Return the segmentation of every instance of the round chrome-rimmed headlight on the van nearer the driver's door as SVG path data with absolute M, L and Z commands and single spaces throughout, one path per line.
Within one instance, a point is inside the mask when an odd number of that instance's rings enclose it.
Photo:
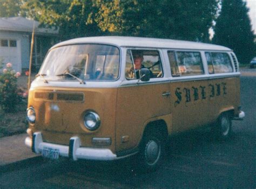
M 84 125 L 87 129 L 94 131 L 99 128 L 100 118 L 99 115 L 89 111 L 84 115 Z

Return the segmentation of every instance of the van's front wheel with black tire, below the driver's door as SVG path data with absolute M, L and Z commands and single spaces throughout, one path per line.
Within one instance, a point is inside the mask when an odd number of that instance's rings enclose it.
M 139 146 L 138 167 L 141 172 L 156 171 L 163 162 L 165 138 L 161 132 L 146 132 Z

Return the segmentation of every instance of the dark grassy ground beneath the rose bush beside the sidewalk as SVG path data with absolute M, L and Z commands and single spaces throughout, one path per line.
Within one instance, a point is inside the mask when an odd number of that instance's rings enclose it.
M 19 103 L 15 113 L 4 113 L 0 109 L 0 137 L 21 134 L 28 128 L 26 102 Z

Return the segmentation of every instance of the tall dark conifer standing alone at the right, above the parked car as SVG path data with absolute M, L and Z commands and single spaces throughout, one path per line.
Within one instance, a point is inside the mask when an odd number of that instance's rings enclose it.
M 254 34 L 246 2 L 223 0 L 216 20 L 213 43 L 231 48 L 242 64 L 255 56 Z

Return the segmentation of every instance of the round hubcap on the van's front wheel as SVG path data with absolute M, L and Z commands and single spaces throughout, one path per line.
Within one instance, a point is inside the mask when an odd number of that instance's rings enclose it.
M 160 157 L 160 145 L 155 141 L 149 141 L 145 148 L 145 157 L 147 164 L 156 164 Z

